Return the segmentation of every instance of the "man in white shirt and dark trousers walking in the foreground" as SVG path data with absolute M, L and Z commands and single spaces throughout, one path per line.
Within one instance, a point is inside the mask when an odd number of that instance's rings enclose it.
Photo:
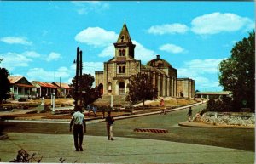
M 72 131 L 73 127 L 73 141 L 76 151 L 83 151 L 83 139 L 84 133 L 86 133 L 86 123 L 84 121 L 84 114 L 81 113 L 82 108 L 77 106 L 76 111 L 73 113 L 72 119 L 69 125 L 69 131 Z M 84 127 L 84 131 L 83 131 Z

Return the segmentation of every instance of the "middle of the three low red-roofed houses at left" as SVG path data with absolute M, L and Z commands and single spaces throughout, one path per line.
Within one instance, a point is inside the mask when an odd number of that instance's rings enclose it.
M 32 85 L 36 88 L 37 97 L 50 98 L 51 93 L 57 93 L 57 87 L 49 82 L 32 81 Z

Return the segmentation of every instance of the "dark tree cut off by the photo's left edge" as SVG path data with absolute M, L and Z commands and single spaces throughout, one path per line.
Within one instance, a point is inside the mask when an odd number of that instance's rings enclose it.
M 0 59 L 0 63 L 3 59 Z M 5 68 L 0 67 L 0 104 L 2 104 L 3 99 L 9 98 L 9 87 L 10 83 L 8 80 L 9 72 Z

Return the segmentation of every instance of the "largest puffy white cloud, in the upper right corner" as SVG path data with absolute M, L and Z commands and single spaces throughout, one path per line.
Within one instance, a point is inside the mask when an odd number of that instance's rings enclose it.
M 217 34 L 254 27 L 253 20 L 231 13 L 204 14 L 192 20 L 191 25 L 191 30 L 196 34 Z

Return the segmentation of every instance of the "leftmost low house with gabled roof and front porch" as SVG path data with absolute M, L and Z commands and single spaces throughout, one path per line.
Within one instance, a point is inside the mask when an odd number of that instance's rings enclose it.
M 36 88 L 24 76 L 8 76 L 12 99 L 30 99 L 36 94 Z

